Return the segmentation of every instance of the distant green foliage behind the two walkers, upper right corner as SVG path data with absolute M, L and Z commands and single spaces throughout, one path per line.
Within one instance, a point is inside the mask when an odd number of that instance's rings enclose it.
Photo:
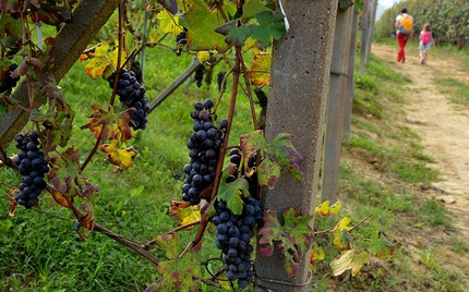
M 432 27 L 436 45 L 456 45 L 469 49 L 469 1 L 466 0 L 407 0 L 386 10 L 376 22 L 378 37 L 392 37 L 396 29 L 394 23 L 402 8 L 413 17 L 414 38 L 425 23 Z

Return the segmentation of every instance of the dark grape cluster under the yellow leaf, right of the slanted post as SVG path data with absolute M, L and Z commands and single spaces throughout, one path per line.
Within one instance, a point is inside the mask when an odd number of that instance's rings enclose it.
M 116 72 L 109 75 L 108 82 L 109 86 L 113 88 L 115 85 Z M 146 129 L 146 123 L 148 119 L 146 115 L 149 111 L 148 99 L 145 96 L 145 87 L 140 84 L 140 82 L 135 77 L 135 73 L 133 71 L 127 71 L 123 69 L 120 72 L 117 95 L 119 96 L 119 100 L 127 106 L 128 108 L 135 108 L 135 111 L 132 112 L 131 123 L 134 130 Z

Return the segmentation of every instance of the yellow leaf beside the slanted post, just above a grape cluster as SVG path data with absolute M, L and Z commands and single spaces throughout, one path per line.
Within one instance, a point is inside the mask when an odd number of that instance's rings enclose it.
M 105 72 L 113 72 L 117 68 L 118 60 L 118 42 L 116 41 L 115 49 L 110 50 L 110 46 L 107 42 L 101 42 L 95 47 L 93 53 L 82 54 L 80 60 L 88 60 L 85 65 L 86 74 L 96 80 L 97 77 L 105 74 Z M 121 60 L 125 60 L 127 53 L 121 50 Z M 105 76 L 106 77 L 106 76 Z

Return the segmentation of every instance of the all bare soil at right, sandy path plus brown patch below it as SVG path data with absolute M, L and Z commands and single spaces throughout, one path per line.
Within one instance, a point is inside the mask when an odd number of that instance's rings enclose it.
M 423 65 L 418 52 L 406 52 L 406 63 L 398 63 L 397 47 L 372 47 L 372 53 L 393 62 L 396 72 L 411 78 L 411 83 L 406 85 L 409 94 L 405 96 L 406 121 L 402 122 L 421 137 L 423 154 L 433 159 L 429 167 L 441 173 L 441 181 L 418 185 L 414 191 L 441 200 L 454 230 L 432 233 L 431 229 L 423 228 L 421 234 L 416 234 L 416 230 L 411 234 L 402 231 L 397 233 L 396 240 L 400 241 L 402 248 L 409 248 L 409 254 L 428 248 L 438 251 L 445 266 L 465 275 L 460 279 L 461 288 L 468 289 L 469 254 L 467 250 L 464 254 L 455 253 L 450 241 L 456 238 L 465 244 L 469 242 L 469 108 L 452 102 L 450 97 L 441 94 L 435 84 L 435 80 L 449 76 L 469 84 L 468 69 L 457 59 L 434 57 L 431 50 Z

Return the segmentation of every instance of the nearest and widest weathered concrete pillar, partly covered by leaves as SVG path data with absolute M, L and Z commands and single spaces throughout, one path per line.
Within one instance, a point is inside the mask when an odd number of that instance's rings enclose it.
M 304 182 L 294 181 L 284 170 L 274 190 L 263 190 L 261 202 L 264 210 L 279 215 L 288 207 L 306 215 L 313 214 L 316 198 L 337 1 L 282 3 L 290 31 L 273 48 L 265 136 L 270 142 L 282 132 L 293 135 L 292 144 L 304 158 Z M 306 291 L 309 261 L 310 253 L 304 253 L 299 270 L 288 278 L 278 251 L 269 258 L 257 253 L 254 291 Z

